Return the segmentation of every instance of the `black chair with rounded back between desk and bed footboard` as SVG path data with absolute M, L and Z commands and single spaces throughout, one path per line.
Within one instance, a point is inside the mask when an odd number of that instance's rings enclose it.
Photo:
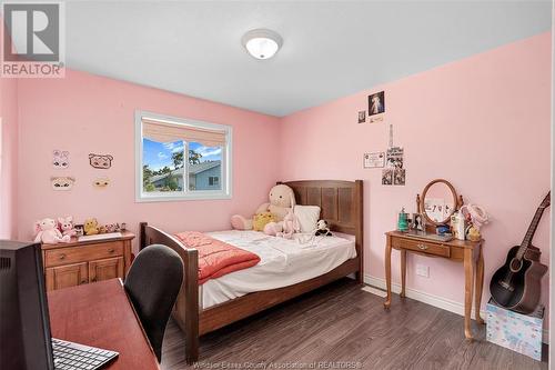
M 137 256 L 123 283 L 149 337 L 162 360 L 165 326 L 183 282 L 183 261 L 169 247 L 152 244 Z

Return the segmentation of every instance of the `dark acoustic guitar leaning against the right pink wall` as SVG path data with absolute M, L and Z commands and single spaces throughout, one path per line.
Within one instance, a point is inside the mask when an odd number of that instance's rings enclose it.
M 494 273 L 490 283 L 494 301 L 509 310 L 531 313 L 539 302 L 541 281 L 547 266 L 539 263 L 542 251 L 532 246 L 532 239 L 549 204 L 551 191 L 537 208 L 522 244 L 511 248 L 505 264 Z

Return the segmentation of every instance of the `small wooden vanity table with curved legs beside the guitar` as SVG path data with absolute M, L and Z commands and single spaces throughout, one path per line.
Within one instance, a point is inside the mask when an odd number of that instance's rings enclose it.
M 444 258 L 464 264 L 464 334 L 472 340 L 471 312 L 474 290 L 475 318 L 476 322 L 484 323 L 480 317 L 480 306 L 482 303 L 482 290 L 484 287 L 484 257 L 482 248 L 484 240 L 452 240 L 435 241 L 425 238 L 408 237 L 400 231 L 385 233 L 387 242 L 385 246 L 385 282 L 387 286 L 387 298 L 384 308 L 391 306 L 391 250 L 401 251 L 401 297 L 405 297 L 406 280 L 406 252 L 425 257 Z M 475 289 L 474 289 L 475 283 Z

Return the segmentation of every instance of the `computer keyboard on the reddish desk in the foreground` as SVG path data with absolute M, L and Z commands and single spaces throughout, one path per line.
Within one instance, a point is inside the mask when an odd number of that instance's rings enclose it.
M 52 338 L 54 368 L 57 370 L 95 370 L 119 356 L 118 352 L 67 342 Z

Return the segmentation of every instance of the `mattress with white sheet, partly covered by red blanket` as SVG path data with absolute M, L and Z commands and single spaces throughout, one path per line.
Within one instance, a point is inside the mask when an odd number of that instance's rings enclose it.
M 202 284 L 199 291 L 202 309 L 255 291 L 283 288 L 316 278 L 356 257 L 354 237 L 340 233 L 333 237 L 295 234 L 292 240 L 259 231 L 231 230 L 206 234 L 253 252 L 261 260 L 254 267 Z

